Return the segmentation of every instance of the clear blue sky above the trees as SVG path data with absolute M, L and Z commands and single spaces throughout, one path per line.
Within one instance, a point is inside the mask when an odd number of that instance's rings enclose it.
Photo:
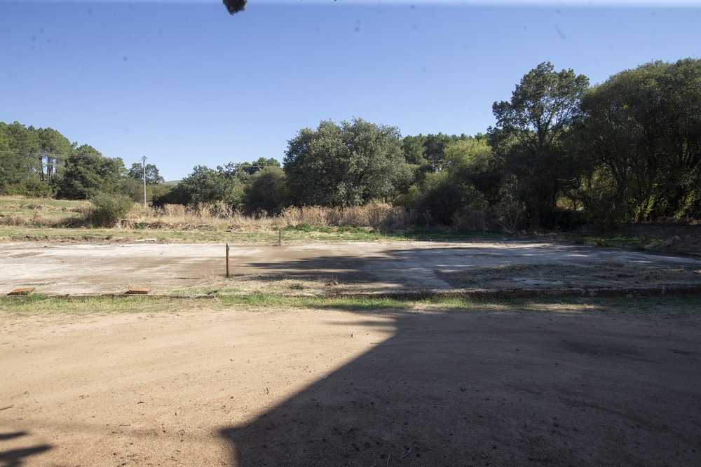
M 320 120 L 476 134 L 540 62 L 592 83 L 701 55 L 701 0 L 0 0 L 0 121 L 167 180 L 283 160 Z

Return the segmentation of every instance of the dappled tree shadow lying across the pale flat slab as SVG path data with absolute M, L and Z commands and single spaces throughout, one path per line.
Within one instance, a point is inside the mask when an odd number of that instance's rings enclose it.
M 318 250 L 326 252 L 326 249 Z M 607 267 L 613 262 L 625 263 L 626 267 L 637 267 L 639 270 L 654 270 L 665 267 L 693 269 L 701 267 L 701 261 L 688 258 L 665 258 L 645 253 L 627 251 L 602 251 L 588 246 L 563 246 L 546 244 L 501 244 L 490 245 L 489 248 L 479 244 L 459 244 L 454 246 L 430 246 L 417 249 L 386 248 L 365 256 L 339 252 L 337 255 L 316 255 L 313 248 L 302 251 L 281 251 L 279 260 L 246 261 L 236 264 L 238 276 L 248 276 L 254 280 L 277 281 L 292 280 L 330 280 L 341 285 L 359 285 L 362 288 L 390 289 L 447 289 L 463 288 L 465 286 L 482 288 L 513 288 L 524 286 L 519 283 L 518 270 L 512 272 L 515 279 L 507 278 L 494 282 L 490 270 L 504 276 L 503 267 L 523 265 L 557 265 L 553 270 L 552 280 L 543 281 L 548 285 L 552 281 L 571 277 L 573 283 L 582 281 L 576 279 L 581 274 L 588 274 L 594 267 Z M 631 266 L 633 265 L 633 266 Z M 611 266 L 614 267 L 614 266 Z M 615 272 L 615 271 L 614 271 Z M 618 271 L 620 273 L 620 271 Z M 468 277 L 465 277 L 468 274 Z M 538 271 L 543 276 L 543 270 Z M 620 276 L 620 274 L 619 274 Z M 617 280 L 617 277 L 612 276 Z M 510 281 L 510 282 L 509 282 Z M 609 280 L 610 281 L 610 280 Z M 533 286 L 529 281 L 528 286 Z M 537 281 L 536 281 L 537 282 Z M 538 284 L 536 284 L 537 286 Z M 615 284 L 614 284 L 615 285 Z

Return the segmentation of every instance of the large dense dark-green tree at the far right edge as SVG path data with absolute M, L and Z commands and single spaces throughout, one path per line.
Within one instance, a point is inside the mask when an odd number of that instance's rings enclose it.
M 609 223 L 701 214 L 701 60 L 651 62 L 594 86 L 580 133 L 587 207 Z

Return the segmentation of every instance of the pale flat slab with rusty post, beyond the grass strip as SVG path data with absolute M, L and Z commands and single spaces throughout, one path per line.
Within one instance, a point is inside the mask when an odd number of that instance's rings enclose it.
M 644 287 L 701 282 L 701 260 L 533 242 L 0 244 L 0 293 L 417 291 Z

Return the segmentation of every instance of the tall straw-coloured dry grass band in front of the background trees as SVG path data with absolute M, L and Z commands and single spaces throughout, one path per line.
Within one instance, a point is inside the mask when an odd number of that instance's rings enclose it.
M 9 200 L 6 200 L 9 201 Z M 90 202 L 73 202 L 72 207 L 46 203 L 6 202 L 0 210 L 0 225 L 16 227 L 87 227 L 90 223 Z M 289 225 L 308 223 L 312 228 L 343 226 L 374 230 L 405 230 L 416 222 L 414 211 L 391 204 L 369 204 L 354 208 L 290 207 L 278 216 L 265 212 L 247 216 L 224 204 L 182 206 L 166 204 L 162 208 L 134 203 L 130 213 L 116 228 L 148 230 L 230 230 L 265 232 Z

